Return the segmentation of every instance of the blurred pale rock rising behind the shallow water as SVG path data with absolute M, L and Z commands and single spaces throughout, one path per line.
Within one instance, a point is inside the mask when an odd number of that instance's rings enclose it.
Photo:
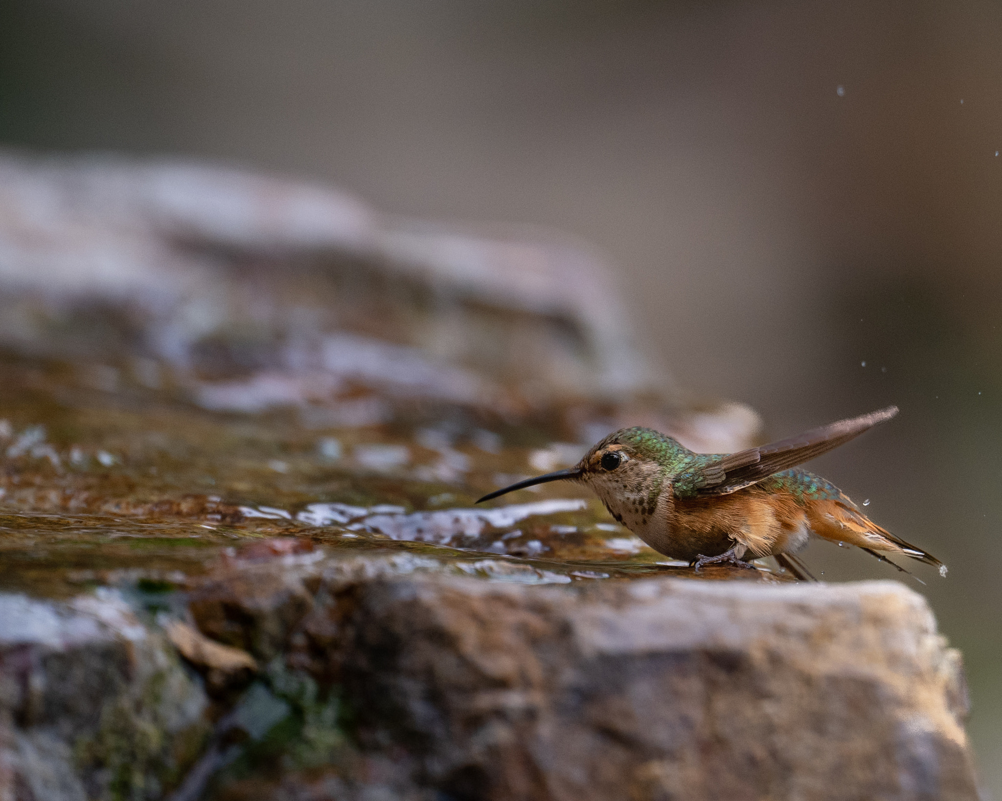
M 685 404 L 607 269 L 555 232 L 387 217 L 336 189 L 192 162 L 0 157 L 0 345 L 200 406 L 386 422 L 379 387 L 590 444 L 626 421 L 700 451 L 758 419 Z M 559 414 L 557 414 L 559 410 Z

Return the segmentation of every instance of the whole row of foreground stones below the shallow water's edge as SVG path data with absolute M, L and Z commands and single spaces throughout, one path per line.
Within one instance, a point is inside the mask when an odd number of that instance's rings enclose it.
M 119 593 L 0 598 L 6 797 L 977 797 L 958 654 L 896 582 L 439 567 L 232 565 L 174 607 L 224 646 L 186 663 Z

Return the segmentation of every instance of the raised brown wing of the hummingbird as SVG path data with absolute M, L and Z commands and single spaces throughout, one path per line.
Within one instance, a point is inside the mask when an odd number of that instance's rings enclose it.
M 778 443 L 711 458 L 708 462 L 700 461 L 675 481 L 675 495 L 683 498 L 727 495 L 827 454 L 897 414 L 897 407 L 888 407 L 812 429 Z

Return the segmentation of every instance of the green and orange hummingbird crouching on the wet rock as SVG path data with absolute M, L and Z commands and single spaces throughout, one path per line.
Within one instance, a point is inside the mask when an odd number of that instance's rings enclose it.
M 573 468 L 489 493 L 477 503 L 555 481 L 589 487 L 621 525 L 664 556 L 704 565 L 774 557 L 797 579 L 814 580 L 797 557 L 812 534 L 885 555 L 946 566 L 871 521 L 826 479 L 799 468 L 898 414 L 888 407 L 735 454 L 696 454 L 653 429 L 621 429 Z

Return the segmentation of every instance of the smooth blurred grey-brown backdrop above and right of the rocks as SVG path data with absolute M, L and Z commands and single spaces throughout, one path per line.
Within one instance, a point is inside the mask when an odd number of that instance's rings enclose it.
M 1002 798 L 1002 6 L 7 0 L 0 144 L 205 157 L 383 211 L 578 235 L 637 338 L 950 566 Z M 813 546 L 826 578 L 897 578 Z

